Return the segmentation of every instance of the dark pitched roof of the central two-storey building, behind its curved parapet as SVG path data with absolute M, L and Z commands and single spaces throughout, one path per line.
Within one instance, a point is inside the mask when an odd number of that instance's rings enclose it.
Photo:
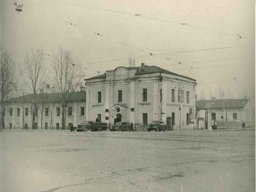
M 163 68 L 157 67 L 157 66 L 144 66 L 144 69 L 142 70 L 142 67 L 125 67 L 125 68 L 136 68 L 137 72 L 135 73 L 135 75 L 141 75 L 141 74 L 150 74 L 150 73 L 166 73 L 166 74 L 171 74 L 171 75 L 177 75 L 180 77 L 184 77 L 186 79 L 191 79 L 193 81 L 196 81 L 196 79 L 192 79 L 190 77 L 186 77 L 183 75 L 179 75 L 177 73 L 173 73 L 170 71 L 167 71 Z M 90 79 L 99 79 L 99 78 L 106 78 L 106 74 L 102 74 L 102 75 L 97 75 L 88 79 L 84 79 L 84 80 L 90 80 Z

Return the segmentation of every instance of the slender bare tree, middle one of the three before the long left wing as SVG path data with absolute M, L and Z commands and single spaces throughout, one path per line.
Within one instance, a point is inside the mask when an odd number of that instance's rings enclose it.
M 39 98 L 37 93 L 44 85 L 46 78 L 45 61 L 45 54 L 41 48 L 37 48 L 36 50 L 31 49 L 30 51 L 26 52 L 25 73 L 27 78 L 25 78 L 25 81 L 33 93 L 33 101 L 30 106 L 30 113 L 32 115 L 32 129 L 36 128 L 35 117 L 37 117 L 37 110 L 39 105 Z

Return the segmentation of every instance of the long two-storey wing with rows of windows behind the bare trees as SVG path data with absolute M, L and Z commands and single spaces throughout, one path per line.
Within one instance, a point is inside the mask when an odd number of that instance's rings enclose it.
M 37 94 L 38 99 L 43 99 L 43 113 L 42 113 L 42 129 L 50 129 L 51 118 L 50 114 L 52 111 L 52 127 L 53 129 L 61 128 L 61 113 L 62 107 L 60 105 L 61 93 L 41 93 Z M 34 99 L 33 94 L 24 95 L 21 97 L 12 98 L 6 101 L 7 107 L 5 110 L 5 129 L 22 129 L 23 128 L 23 117 L 24 117 L 24 128 L 32 129 L 32 115 L 30 109 Z M 66 111 L 66 126 L 68 128 L 71 123 L 77 126 L 85 120 L 86 111 L 86 92 L 79 91 L 72 94 L 69 105 Z M 35 123 L 37 129 L 41 129 L 41 111 L 42 102 L 38 101 L 38 110 L 35 117 Z M 64 128 L 64 129 L 67 129 Z

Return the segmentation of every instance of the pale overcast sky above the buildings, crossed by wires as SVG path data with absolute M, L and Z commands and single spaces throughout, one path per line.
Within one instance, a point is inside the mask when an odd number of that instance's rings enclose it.
M 63 46 L 78 56 L 84 78 L 129 67 L 131 54 L 135 66 L 196 79 L 197 90 L 221 85 L 232 98 L 241 87 L 255 90 L 254 0 L 57 1 L 17 0 L 19 14 L 14 1 L 0 1 L 1 43 L 19 66 L 29 48 L 52 55 Z

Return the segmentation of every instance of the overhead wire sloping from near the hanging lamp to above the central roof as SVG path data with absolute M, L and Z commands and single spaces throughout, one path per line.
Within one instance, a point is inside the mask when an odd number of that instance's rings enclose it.
M 49 0 L 49 1 L 50 1 L 50 0 Z M 28 7 L 29 7 L 29 6 L 28 6 Z M 30 8 L 31 8 L 31 7 L 30 7 Z M 86 31 L 89 31 L 89 32 L 91 32 L 91 33 L 93 33 L 93 34 L 96 34 L 96 35 L 102 36 L 102 37 L 104 37 L 104 38 L 107 38 L 107 39 L 113 40 L 113 41 L 115 41 L 115 42 L 118 42 L 118 43 L 124 44 L 125 46 L 132 47 L 132 48 L 134 48 L 134 49 L 136 49 L 136 50 L 139 50 L 139 51 L 145 52 L 145 53 L 149 54 L 148 56 L 157 56 L 157 57 L 159 57 L 159 58 L 163 58 L 163 59 L 166 59 L 166 60 L 170 60 L 170 61 L 173 61 L 173 62 L 177 62 L 177 63 L 179 63 L 178 61 L 175 61 L 175 60 L 172 60 L 172 59 L 169 59 L 169 58 L 164 58 L 164 57 L 162 57 L 162 56 L 155 55 L 155 54 L 153 54 L 153 53 L 151 53 L 151 52 L 148 52 L 148 51 L 144 51 L 144 50 L 142 50 L 142 49 L 140 49 L 140 48 L 137 48 L 137 47 L 131 46 L 131 45 L 127 44 L 127 43 L 124 43 L 124 42 L 118 41 L 118 40 L 116 40 L 116 39 L 110 38 L 110 37 L 108 37 L 108 36 L 105 36 L 105 35 L 99 34 L 98 32 L 94 32 L 94 31 L 88 30 L 87 28 L 84 28 L 84 27 L 78 26 L 78 25 L 76 25 L 76 24 L 74 24 L 74 23 L 70 23 L 70 22 L 68 22 L 68 21 L 66 21 L 66 20 L 63 20 L 63 19 L 60 19 L 60 18 L 58 18 L 58 17 L 55 17 L 55 16 L 52 16 L 52 15 L 49 15 L 49 14 L 44 13 L 44 12 L 42 12 L 42 11 L 39 11 L 39 10 L 37 10 L 37 9 L 34 9 L 34 8 L 31 8 L 31 9 L 33 9 L 33 10 L 35 10 L 35 11 L 38 11 L 38 12 L 40 12 L 40 13 L 43 13 L 43 14 L 45 14 L 45 15 L 48 15 L 48 16 L 50 16 L 50 17 L 53 17 L 53 18 L 55 18 L 55 19 L 61 20 L 61 21 L 65 22 L 65 23 L 71 24 L 71 25 L 73 25 L 73 26 L 79 27 L 79 28 L 84 29 L 84 30 L 86 30 Z

